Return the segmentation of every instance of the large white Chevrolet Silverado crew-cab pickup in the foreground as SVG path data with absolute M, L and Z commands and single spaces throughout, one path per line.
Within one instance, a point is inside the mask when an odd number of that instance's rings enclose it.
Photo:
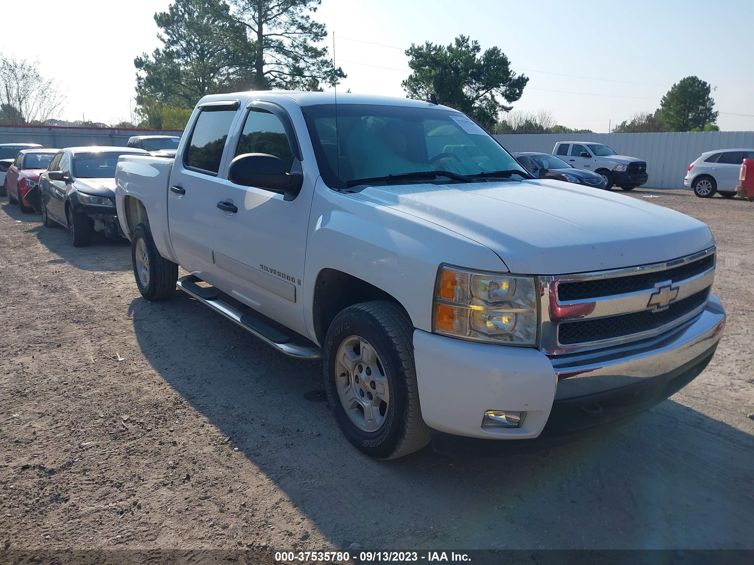
M 534 179 L 431 102 L 205 96 L 174 160 L 127 155 L 115 179 L 144 298 L 177 280 L 321 357 L 337 423 L 372 457 L 622 420 L 696 377 L 725 325 L 705 224 Z

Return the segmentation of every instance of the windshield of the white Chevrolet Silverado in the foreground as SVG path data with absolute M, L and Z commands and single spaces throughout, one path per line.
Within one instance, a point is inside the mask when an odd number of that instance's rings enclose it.
M 306 106 L 314 153 L 329 187 L 354 179 L 404 173 L 447 171 L 473 176 L 492 171 L 524 171 L 486 131 L 457 111 L 441 108 L 342 104 Z M 523 178 L 530 178 L 524 173 Z M 397 182 L 385 179 L 385 182 Z M 450 176 L 401 182 L 458 182 Z M 350 183 L 354 184 L 353 182 Z

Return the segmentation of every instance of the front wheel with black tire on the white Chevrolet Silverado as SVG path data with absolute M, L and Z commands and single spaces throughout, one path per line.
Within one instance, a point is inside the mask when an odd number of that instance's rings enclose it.
M 325 337 L 327 400 L 343 435 L 369 457 L 396 459 L 425 447 L 412 344 L 413 326 L 396 304 L 342 310 Z

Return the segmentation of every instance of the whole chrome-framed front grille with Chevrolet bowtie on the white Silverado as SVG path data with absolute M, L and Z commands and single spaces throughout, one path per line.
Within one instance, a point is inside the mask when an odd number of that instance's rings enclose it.
M 705 307 L 715 249 L 626 269 L 540 277 L 541 349 L 597 350 L 670 331 Z

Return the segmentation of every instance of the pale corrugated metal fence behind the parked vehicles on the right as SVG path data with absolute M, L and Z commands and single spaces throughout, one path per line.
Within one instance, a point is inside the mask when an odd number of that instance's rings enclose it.
M 495 136 L 511 153 L 551 153 L 556 142 L 604 143 L 614 151 L 647 162 L 651 188 L 683 188 L 688 166 L 704 151 L 716 149 L 754 150 L 754 132 L 710 131 L 669 133 L 521 133 Z

